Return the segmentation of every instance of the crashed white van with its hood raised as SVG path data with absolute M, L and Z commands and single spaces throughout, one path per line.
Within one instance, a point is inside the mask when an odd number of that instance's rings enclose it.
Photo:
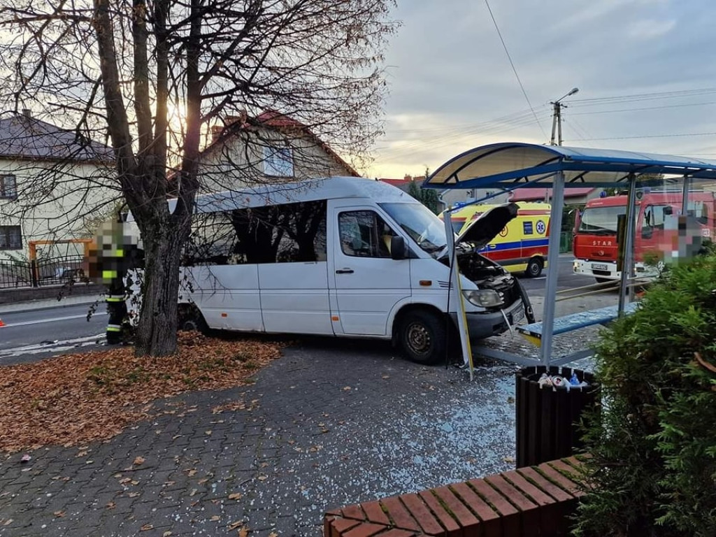
M 474 339 L 504 332 L 529 304 L 476 253 L 516 214 L 505 207 L 458 238 Z M 392 339 L 415 362 L 444 359 L 456 319 L 445 227 L 402 190 L 334 177 L 200 195 L 192 230 L 180 328 Z

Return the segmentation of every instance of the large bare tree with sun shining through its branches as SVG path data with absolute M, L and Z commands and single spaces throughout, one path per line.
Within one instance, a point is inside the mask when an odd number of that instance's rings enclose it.
M 392 4 L 0 0 L 0 99 L 113 149 L 145 250 L 137 354 L 176 349 L 180 250 L 208 127 L 227 117 L 256 127 L 248 118 L 276 110 L 364 156 L 379 133 Z

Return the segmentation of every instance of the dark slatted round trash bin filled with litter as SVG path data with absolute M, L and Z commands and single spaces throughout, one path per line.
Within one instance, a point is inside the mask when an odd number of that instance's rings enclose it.
M 574 448 L 581 448 L 579 420 L 584 410 L 599 405 L 599 394 L 599 384 L 589 372 L 569 367 L 520 369 L 515 389 L 517 467 L 569 457 Z

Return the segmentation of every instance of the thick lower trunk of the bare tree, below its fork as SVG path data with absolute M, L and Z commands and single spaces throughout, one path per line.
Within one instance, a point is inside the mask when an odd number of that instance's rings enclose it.
M 182 226 L 155 222 L 143 233 L 145 270 L 135 356 L 161 357 L 177 351 L 177 310 Z

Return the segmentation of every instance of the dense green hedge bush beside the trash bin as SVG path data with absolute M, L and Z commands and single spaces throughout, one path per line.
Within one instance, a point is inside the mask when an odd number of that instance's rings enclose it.
M 677 266 L 601 334 L 581 536 L 716 535 L 716 254 Z

